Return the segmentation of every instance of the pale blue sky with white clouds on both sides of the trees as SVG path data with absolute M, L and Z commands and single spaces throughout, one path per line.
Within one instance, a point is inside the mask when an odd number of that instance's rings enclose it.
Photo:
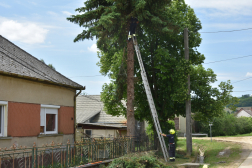
M 110 79 L 99 73 L 96 40 L 73 42 L 82 28 L 66 20 L 77 14 L 84 0 L 1 0 L 0 35 L 58 72 L 86 86 L 89 95 L 100 94 Z M 252 94 L 252 1 L 185 0 L 202 23 L 204 67 L 221 81 L 231 80 L 233 96 Z M 220 31 L 232 32 L 220 32 Z M 218 33 L 209 33 L 218 32 Z M 242 57 L 242 58 L 239 58 Z M 235 59 L 234 59 L 235 58 Z M 225 60 L 225 61 L 221 61 Z M 250 67 L 251 66 L 251 67 Z

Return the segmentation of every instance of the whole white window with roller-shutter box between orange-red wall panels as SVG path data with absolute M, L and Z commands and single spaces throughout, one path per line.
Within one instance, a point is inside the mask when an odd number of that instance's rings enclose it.
M 40 110 L 40 133 L 58 133 L 58 109 L 60 106 L 41 105 Z

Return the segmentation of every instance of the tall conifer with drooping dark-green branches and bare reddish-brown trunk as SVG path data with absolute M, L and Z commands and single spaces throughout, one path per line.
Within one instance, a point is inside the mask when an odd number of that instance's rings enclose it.
M 152 29 L 159 25 L 161 32 L 169 29 L 166 7 L 171 0 L 87 0 L 76 11 L 84 14 L 67 18 L 85 29 L 74 41 L 96 37 L 97 47 L 106 54 L 120 51 L 127 43 L 127 135 L 135 136 L 134 117 L 134 48 L 127 41 L 130 18 L 137 17 L 141 24 Z M 115 50 L 111 50 L 114 47 Z

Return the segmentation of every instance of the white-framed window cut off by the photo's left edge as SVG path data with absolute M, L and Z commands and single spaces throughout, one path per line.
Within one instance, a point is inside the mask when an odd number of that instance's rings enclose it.
M 7 104 L 6 101 L 0 101 L 0 137 L 7 136 Z

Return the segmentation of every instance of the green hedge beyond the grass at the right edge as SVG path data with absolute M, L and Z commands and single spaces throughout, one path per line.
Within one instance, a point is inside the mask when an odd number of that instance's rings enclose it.
M 210 135 L 210 127 L 207 122 L 197 122 L 201 133 Z M 236 118 L 234 114 L 225 113 L 223 117 L 215 118 L 212 125 L 212 136 L 232 136 L 252 132 L 252 118 Z

